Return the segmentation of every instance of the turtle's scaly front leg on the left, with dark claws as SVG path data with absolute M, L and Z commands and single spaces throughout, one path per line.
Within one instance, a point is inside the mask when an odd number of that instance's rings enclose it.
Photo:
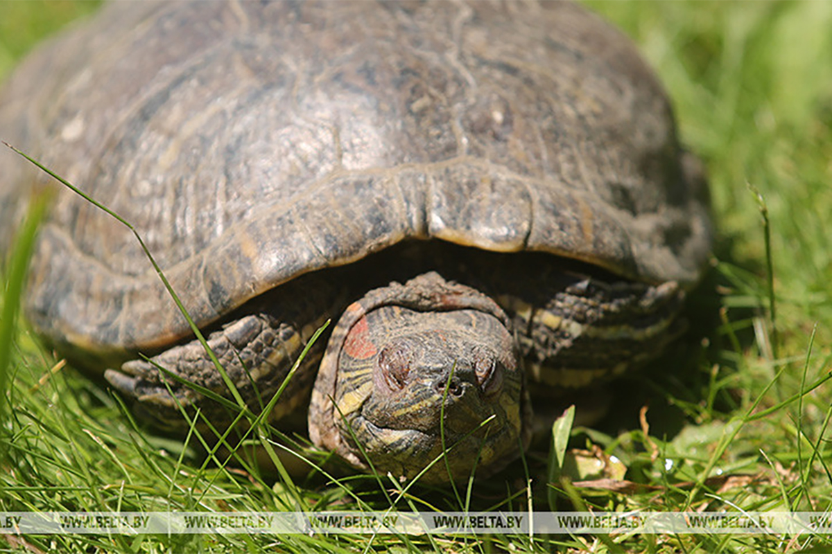
M 208 346 L 245 404 L 257 412 L 280 388 L 316 328 L 305 326 L 299 329 L 269 313 L 254 313 L 241 316 L 211 333 Z M 324 341 L 321 341 L 310 350 L 275 404 L 271 420 L 285 417 L 308 399 L 314 380 L 311 368 L 318 365 L 323 346 Z M 128 361 L 121 365 L 121 370 L 106 370 L 105 377 L 116 390 L 136 400 L 137 416 L 150 420 L 156 427 L 175 431 L 187 429 L 181 416 L 182 408 L 191 414 L 195 408 L 200 409 L 201 414 L 220 428 L 235 419 L 237 414 L 232 409 L 166 375 L 159 367 L 182 380 L 233 399 L 205 348 L 196 340 L 174 346 L 151 361 Z

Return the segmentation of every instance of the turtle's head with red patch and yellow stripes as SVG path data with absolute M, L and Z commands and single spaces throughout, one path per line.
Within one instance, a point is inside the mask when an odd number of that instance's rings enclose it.
M 500 307 L 431 272 L 345 311 L 315 384 L 310 435 L 359 468 L 458 480 L 517 457 L 524 395 Z

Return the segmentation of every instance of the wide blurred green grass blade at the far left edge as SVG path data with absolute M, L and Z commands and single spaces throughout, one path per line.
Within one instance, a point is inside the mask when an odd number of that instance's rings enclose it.
M 20 311 L 23 284 L 26 280 L 29 259 L 35 248 L 37 228 L 46 213 L 48 194 L 35 194 L 29 201 L 28 213 L 17 231 L 17 239 L 8 259 L 6 290 L 0 312 L 0 424 L 5 421 L 8 375 L 12 364 L 14 338 L 17 332 L 17 313 Z M 2 429 L 6 429 L 2 425 Z M 0 455 L 4 452 L 0 452 Z

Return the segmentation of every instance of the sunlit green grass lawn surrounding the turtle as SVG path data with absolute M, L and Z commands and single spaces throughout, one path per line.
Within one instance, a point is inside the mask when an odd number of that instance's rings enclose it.
M 706 162 L 718 230 L 712 269 L 691 297 L 686 341 L 649 380 L 622 383 L 613 417 L 572 428 L 566 453 L 558 429 L 557 463 L 547 463 L 545 451 L 525 460 L 529 488 L 518 463 L 503 481 L 478 483 L 470 503 L 522 510 L 530 498 L 545 510 L 552 498 L 559 509 L 829 510 L 832 2 L 589 3 L 639 43 L 671 91 L 683 142 Z M 0 72 L 43 32 L 90 9 L 84 2 L 0 2 Z M 218 466 L 196 453 L 196 436 L 183 445 L 147 434 L 116 397 L 42 351 L 25 324 L 10 327 L 19 302 L 10 267 L 0 321 L 0 360 L 9 360 L 0 511 L 384 509 L 396 498 L 400 509 L 428 511 L 468 502 L 470 491 L 402 494 L 383 476 L 328 483 L 312 472 L 292 481 Z M 3 341 L 4 333 L 13 341 Z M 678 360 L 691 361 L 685 371 L 663 371 Z M 582 469 L 599 457 L 607 460 L 600 477 L 630 484 L 577 487 L 599 477 Z M 832 552 L 820 535 L 368 541 L 6 538 L 8 549 L 29 552 Z

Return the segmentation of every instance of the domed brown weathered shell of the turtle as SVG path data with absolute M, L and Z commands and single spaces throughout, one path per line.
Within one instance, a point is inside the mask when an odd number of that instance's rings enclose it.
M 570 3 L 113 2 L 18 68 L 0 130 L 134 225 L 199 326 L 406 240 L 685 285 L 710 248 L 664 91 Z M 47 179 L 0 156 L 7 221 Z M 66 189 L 31 276 L 52 342 L 190 333 L 131 231 Z

